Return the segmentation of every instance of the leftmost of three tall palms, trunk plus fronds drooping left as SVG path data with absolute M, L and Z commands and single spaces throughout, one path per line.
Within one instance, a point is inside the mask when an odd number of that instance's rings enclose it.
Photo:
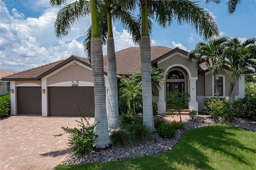
M 66 4 L 66 0 L 51 0 L 52 6 Z M 94 123 L 98 125 L 94 128 L 94 133 L 98 134 L 95 140 L 96 148 L 105 148 L 111 141 L 108 134 L 108 121 L 106 114 L 106 97 L 104 85 L 104 65 L 102 42 L 100 38 L 100 27 L 98 23 L 96 1 L 80 0 L 68 4 L 58 11 L 54 24 L 55 34 L 58 38 L 66 36 L 75 20 L 88 16 L 91 13 L 92 34 L 91 34 L 91 64 L 92 77 L 94 82 Z

